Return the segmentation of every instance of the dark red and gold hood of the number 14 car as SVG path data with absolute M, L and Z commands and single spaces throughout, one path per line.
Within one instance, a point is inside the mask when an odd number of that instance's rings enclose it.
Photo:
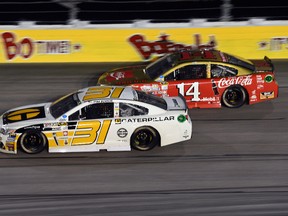
M 145 65 L 117 68 L 102 74 L 98 80 L 100 85 L 129 85 L 133 83 L 151 82 L 145 74 Z

